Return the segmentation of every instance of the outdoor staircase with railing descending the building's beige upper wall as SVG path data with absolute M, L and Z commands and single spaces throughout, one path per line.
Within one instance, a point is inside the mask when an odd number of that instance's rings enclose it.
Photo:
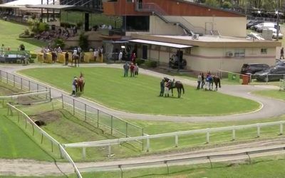
M 189 21 L 187 21 L 182 16 L 167 16 L 167 13 L 155 3 L 139 3 L 136 2 L 135 10 L 141 12 L 151 12 L 156 15 L 165 23 L 173 23 L 177 26 L 180 26 L 185 31 L 185 35 L 194 35 L 198 33 L 202 36 L 205 33 L 205 29 L 202 27 L 193 26 Z

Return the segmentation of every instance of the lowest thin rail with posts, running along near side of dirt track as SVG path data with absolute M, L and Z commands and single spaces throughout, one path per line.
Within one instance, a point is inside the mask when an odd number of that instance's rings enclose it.
M 274 147 L 266 147 L 266 148 L 257 148 L 257 149 L 251 149 L 247 151 L 241 151 L 241 152 L 232 152 L 232 153 L 225 153 L 225 154 L 209 154 L 209 155 L 202 155 L 202 156 L 190 156 L 190 157 L 184 157 L 184 158 L 178 158 L 178 159 L 163 159 L 158 161 L 152 161 L 147 160 L 146 162 L 135 162 L 135 163 L 126 163 L 126 164 L 113 164 L 113 165 L 106 165 L 106 166 L 96 166 L 96 167 L 85 167 L 82 168 L 81 171 L 88 170 L 88 172 L 93 171 L 108 171 L 118 169 L 121 172 L 121 177 L 123 177 L 123 168 L 130 169 L 135 167 L 150 167 L 154 165 L 162 165 L 165 164 L 167 167 L 167 174 L 169 174 L 169 164 L 201 164 L 201 163 L 207 163 L 209 162 L 211 168 L 213 167 L 212 162 L 214 159 L 218 159 L 216 162 L 222 162 L 219 158 L 225 158 L 227 160 L 237 160 L 239 158 L 237 157 L 243 157 L 240 159 L 249 159 L 249 164 L 252 163 L 252 157 L 251 155 L 257 155 L 262 153 L 268 153 L 268 152 L 284 152 L 285 146 L 284 145 L 277 145 Z M 260 155 L 262 156 L 262 155 Z M 264 156 L 264 155 L 263 155 Z M 234 157 L 233 159 L 229 159 L 229 157 Z M 199 161 L 199 162 L 193 162 L 193 161 Z M 202 161 L 202 162 L 201 162 Z

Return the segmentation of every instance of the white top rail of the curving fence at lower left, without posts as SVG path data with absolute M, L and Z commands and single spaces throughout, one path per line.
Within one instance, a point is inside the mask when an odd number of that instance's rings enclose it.
M 21 112 L 22 115 L 24 115 L 26 117 L 26 119 L 28 120 L 28 122 L 30 122 L 31 125 L 33 125 L 33 127 L 36 127 L 38 129 L 38 131 L 44 135 L 45 137 L 48 138 L 48 140 L 51 140 L 51 142 L 53 142 L 54 144 L 58 145 L 61 149 L 61 154 L 63 154 L 66 159 L 68 159 L 68 162 L 70 162 L 73 165 L 73 168 L 76 172 L 76 174 L 78 175 L 79 178 L 82 178 L 81 173 L 78 170 L 78 167 L 76 167 L 76 164 L 73 162 L 73 159 L 71 159 L 71 156 L 68 155 L 68 152 L 66 152 L 66 150 L 63 148 L 63 146 L 61 145 L 61 143 L 59 143 L 56 139 L 54 139 L 53 137 L 51 137 L 51 135 L 48 135 L 48 133 L 46 131 L 44 131 L 43 129 L 41 129 L 41 127 L 39 127 L 38 125 L 36 125 L 35 122 L 33 122 L 33 120 L 31 120 L 30 117 L 28 117 L 28 115 L 26 115 L 25 112 L 19 110 L 18 108 L 16 108 L 14 105 L 11 105 L 9 103 L 6 104 L 8 106 L 8 108 L 11 110 L 11 108 L 13 108 L 14 110 L 16 110 L 17 112 Z

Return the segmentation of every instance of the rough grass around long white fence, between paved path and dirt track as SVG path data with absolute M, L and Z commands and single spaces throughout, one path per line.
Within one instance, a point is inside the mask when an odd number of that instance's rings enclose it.
M 56 110 L 51 111 L 52 108 Z M 78 117 L 74 117 L 72 112 L 62 110 L 61 103 L 41 104 L 22 106 L 21 110 L 24 110 L 28 115 L 31 115 L 33 119 L 46 118 L 42 128 L 46 130 L 52 137 L 56 138 L 61 143 L 72 143 L 72 142 L 84 142 L 84 141 L 95 141 L 113 139 L 115 137 L 110 135 L 110 132 L 98 129 L 92 122 L 85 122 L 80 120 Z M 141 121 L 141 120 L 128 120 L 129 122 L 135 123 L 140 127 L 143 127 L 147 134 L 159 134 L 165 132 L 176 132 L 183 130 L 198 130 L 210 127 L 226 127 L 232 125 L 247 125 L 257 122 L 273 122 L 277 120 L 285 120 L 285 115 L 282 117 L 272 117 L 266 120 L 251 120 L 251 121 L 234 121 L 234 122 L 152 122 L 152 121 Z M 193 147 L 213 147 L 218 143 L 224 145 L 233 145 L 237 142 L 250 142 L 252 140 L 269 139 L 278 137 L 279 125 L 271 127 L 261 127 L 261 137 L 257 138 L 257 129 L 250 128 L 236 131 L 236 142 L 232 142 L 232 131 L 228 132 L 214 132 L 210 134 L 210 143 L 204 145 L 206 137 L 204 134 L 193 134 L 179 137 L 179 147 L 175 148 L 174 137 L 164 137 L 160 139 L 150 140 L 150 152 L 142 150 L 142 145 L 138 142 L 124 143 L 120 146 L 112 146 L 112 153 L 115 154 L 113 158 L 119 157 L 130 157 L 140 156 L 147 154 L 156 154 L 159 152 L 180 152 L 184 149 L 191 149 Z M 88 148 L 86 150 L 86 159 L 82 159 L 82 150 L 76 148 L 68 148 L 68 153 L 76 161 L 93 161 L 99 159 L 106 159 L 108 150 L 105 147 Z

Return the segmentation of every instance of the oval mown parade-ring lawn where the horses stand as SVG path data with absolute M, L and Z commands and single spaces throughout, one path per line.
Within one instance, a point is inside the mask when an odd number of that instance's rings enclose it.
M 138 75 L 123 78 L 123 69 L 115 68 L 33 68 L 20 73 L 71 93 L 73 76 L 84 73 L 84 98 L 117 110 L 164 115 L 227 115 L 249 112 L 259 103 L 217 92 L 195 90 L 185 85 L 185 94 L 177 98 L 159 97 L 160 78 Z M 219 109 L 217 109 L 219 108 Z

